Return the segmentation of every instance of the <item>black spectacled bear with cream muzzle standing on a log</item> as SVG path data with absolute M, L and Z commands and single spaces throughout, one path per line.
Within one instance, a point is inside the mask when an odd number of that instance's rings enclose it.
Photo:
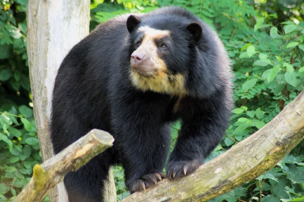
M 115 164 L 131 193 L 162 181 L 176 120 L 166 176 L 193 173 L 220 142 L 232 106 L 231 61 L 216 32 L 191 12 L 166 7 L 100 24 L 58 70 L 51 139 L 55 153 L 94 128 L 115 142 L 65 176 L 69 201 L 102 201 Z

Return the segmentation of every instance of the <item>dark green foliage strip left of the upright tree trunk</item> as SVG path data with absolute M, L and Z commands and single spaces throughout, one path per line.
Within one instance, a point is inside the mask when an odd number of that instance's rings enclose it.
M 0 201 L 11 201 L 41 163 L 26 54 L 26 1 L 0 1 Z

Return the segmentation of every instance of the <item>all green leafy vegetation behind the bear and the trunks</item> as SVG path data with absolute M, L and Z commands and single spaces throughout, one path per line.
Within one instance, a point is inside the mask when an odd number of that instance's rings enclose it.
M 208 160 L 254 133 L 304 88 L 302 0 L 91 0 L 92 30 L 128 12 L 176 5 L 218 31 L 235 71 L 231 126 Z M 179 123 L 172 125 L 173 143 Z M 10 201 L 41 163 L 26 54 L 26 0 L 0 0 L 0 201 Z M 304 201 L 304 142 L 274 169 L 212 201 Z M 114 168 L 118 199 L 129 195 Z M 48 200 L 48 199 L 46 199 Z

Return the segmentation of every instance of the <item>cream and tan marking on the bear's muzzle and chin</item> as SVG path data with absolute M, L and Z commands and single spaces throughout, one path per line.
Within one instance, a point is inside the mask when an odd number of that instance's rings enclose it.
M 133 85 L 142 91 L 154 91 L 169 95 L 185 94 L 185 77 L 172 74 L 165 61 L 159 57 L 156 39 L 166 37 L 170 40 L 170 31 L 140 27 L 144 33 L 140 46 L 131 55 L 131 80 Z M 133 57 L 133 58 L 132 58 Z M 135 58 L 137 57 L 137 58 Z

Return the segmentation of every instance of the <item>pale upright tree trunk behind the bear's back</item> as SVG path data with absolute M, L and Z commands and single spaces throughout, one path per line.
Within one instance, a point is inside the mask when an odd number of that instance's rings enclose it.
M 49 120 L 57 70 L 68 51 L 88 35 L 89 22 L 90 0 L 27 1 L 29 76 L 34 117 L 44 161 L 54 154 Z M 112 189 L 113 179 L 107 184 Z M 108 191 L 116 194 L 116 191 Z M 63 183 L 53 188 L 49 197 L 52 202 L 67 201 Z M 116 196 L 114 198 L 116 201 Z

